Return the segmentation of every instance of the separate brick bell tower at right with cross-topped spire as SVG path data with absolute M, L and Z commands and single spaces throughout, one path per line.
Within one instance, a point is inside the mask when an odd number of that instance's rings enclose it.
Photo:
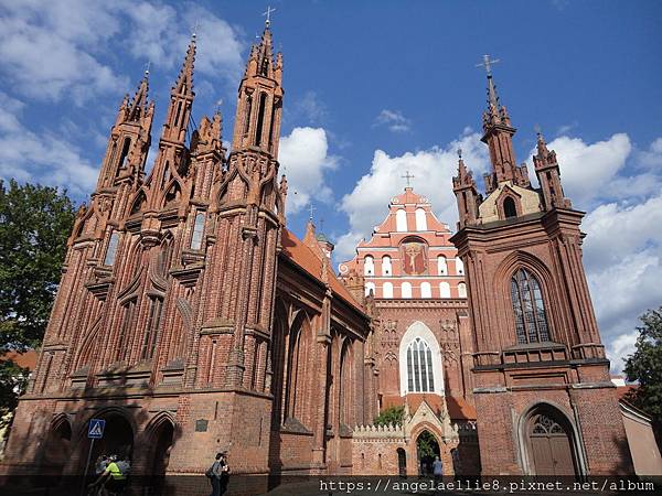
M 485 56 L 485 196 L 460 158 L 453 191 L 473 327 L 473 397 L 483 475 L 631 473 L 609 360 L 581 263 L 584 213 L 564 196 L 537 137 L 538 188 L 516 165 L 515 128 Z

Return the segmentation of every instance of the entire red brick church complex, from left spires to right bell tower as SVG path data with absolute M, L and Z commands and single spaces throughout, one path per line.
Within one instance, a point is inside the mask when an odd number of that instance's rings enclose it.
M 238 474 L 415 475 L 421 436 L 446 474 L 632 472 L 581 265 L 584 214 L 541 136 L 540 187 L 516 164 L 491 74 L 492 171 L 483 196 L 460 158 L 459 230 L 407 187 L 337 277 L 312 222 L 303 240 L 287 228 L 268 24 L 229 153 L 218 112 L 191 123 L 195 44 L 149 174 L 147 74 L 119 107 L 4 472 L 81 474 L 93 418 L 107 422 L 93 459 L 124 453 L 138 475 L 201 474 L 222 450 Z M 393 406 L 402 424 L 373 425 Z

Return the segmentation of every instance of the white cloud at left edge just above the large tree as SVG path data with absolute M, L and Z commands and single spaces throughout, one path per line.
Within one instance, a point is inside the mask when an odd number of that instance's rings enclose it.
M 96 168 L 73 143 L 26 129 L 19 119 L 22 108 L 22 103 L 0 91 L 0 177 L 57 185 L 87 196 L 96 184 Z

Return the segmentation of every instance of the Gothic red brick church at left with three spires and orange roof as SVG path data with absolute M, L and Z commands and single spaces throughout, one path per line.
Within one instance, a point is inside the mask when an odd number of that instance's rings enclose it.
M 146 73 L 83 206 L 6 473 L 81 474 L 100 453 L 136 475 L 350 472 L 376 414 L 371 320 L 320 246 L 286 228 L 282 57 L 265 29 L 239 85 L 233 149 L 216 112 L 191 126 L 196 42 L 174 83 L 153 169 Z M 265 479 L 266 481 L 266 479 Z

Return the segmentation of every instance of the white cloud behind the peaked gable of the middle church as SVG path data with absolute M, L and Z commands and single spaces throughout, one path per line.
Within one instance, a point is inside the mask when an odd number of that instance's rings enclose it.
M 351 258 L 356 242 L 367 238 L 373 227 L 384 220 L 389 200 L 404 187 L 402 175 L 406 171 L 415 176 L 412 184 L 414 190 L 430 198 L 439 220 L 455 228 L 458 214 L 451 176 L 457 174 L 458 148 L 462 149 L 465 163 L 477 176 L 487 171 L 487 149 L 480 142 L 480 134 L 471 130 L 466 130 L 462 137 L 446 147 L 406 152 L 401 157 L 389 157 L 376 150 L 370 172 L 342 198 L 341 209 L 350 218 L 350 230 L 338 240 L 338 259 Z

